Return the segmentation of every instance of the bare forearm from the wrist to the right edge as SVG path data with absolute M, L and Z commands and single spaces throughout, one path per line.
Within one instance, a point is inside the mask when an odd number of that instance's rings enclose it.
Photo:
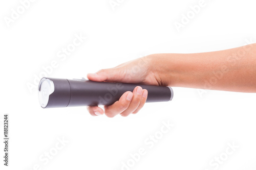
M 256 92 L 256 43 L 196 54 L 155 54 L 160 85 Z

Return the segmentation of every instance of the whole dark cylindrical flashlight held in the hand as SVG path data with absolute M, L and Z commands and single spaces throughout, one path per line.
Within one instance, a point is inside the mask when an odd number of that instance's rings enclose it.
M 38 98 L 42 108 L 112 105 L 124 92 L 133 91 L 136 86 L 147 89 L 146 102 L 167 102 L 174 96 L 171 87 L 94 82 L 84 78 L 42 78 L 38 86 Z

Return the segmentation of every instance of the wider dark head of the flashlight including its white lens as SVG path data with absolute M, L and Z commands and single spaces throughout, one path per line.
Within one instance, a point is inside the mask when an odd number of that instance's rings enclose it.
M 42 78 L 38 86 L 38 99 L 42 108 L 67 107 L 70 101 L 68 80 Z

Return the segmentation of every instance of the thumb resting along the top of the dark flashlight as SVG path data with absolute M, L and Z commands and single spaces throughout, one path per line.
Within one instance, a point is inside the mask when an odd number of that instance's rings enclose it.
M 92 81 L 96 82 L 119 82 L 120 75 L 118 75 L 119 71 L 116 68 L 108 68 L 108 69 L 101 69 L 96 73 L 89 73 L 87 78 Z

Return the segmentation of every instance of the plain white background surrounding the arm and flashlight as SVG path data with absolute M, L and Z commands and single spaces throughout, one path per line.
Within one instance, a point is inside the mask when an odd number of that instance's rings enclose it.
M 39 106 L 37 89 L 28 84 L 52 61 L 58 66 L 48 77 L 80 78 L 147 54 L 217 51 L 256 40 L 254 1 L 205 0 L 180 32 L 175 21 L 199 1 L 117 2 L 113 10 L 109 0 L 37 0 L 8 27 L 5 19 L 21 4 L 1 1 L 1 141 L 3 114 L 10 121 L 10 166 L 3 165 L 1 142 L 1 169 L 122 169 L 130 161 L 123 169 L 211 170 L 216 166 L 209 163 L 225 157 L 228 143 L 239 148 L 216 169 L 255 169 L 255 93 L 174 87 L 172 102 L 146 104 L 136 115 L 115 118 L 93 117 L 86 107 Z M 87 39 L 60 60 L 57 53 L 75 34 Z M 159 134 L 162 121 L 174 127 L 149 148 L 145 140 Z M 41 161 L 56 151 L 58 138 L 68 143 L 49 162 Z M 139 148 L 146 154 L 135 162 L 130 154 Z

